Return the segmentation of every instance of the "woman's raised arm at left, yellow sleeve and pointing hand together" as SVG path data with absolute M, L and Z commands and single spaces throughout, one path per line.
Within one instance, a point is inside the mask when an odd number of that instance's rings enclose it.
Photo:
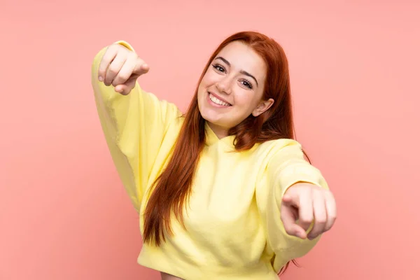
M 180 114 L 174 104 L 141 89 L 137 78 L 147 72 L 132 46 L 118 41 L 97 53 L 91 73 L 106 143 L 137 211 L 160 143 Z

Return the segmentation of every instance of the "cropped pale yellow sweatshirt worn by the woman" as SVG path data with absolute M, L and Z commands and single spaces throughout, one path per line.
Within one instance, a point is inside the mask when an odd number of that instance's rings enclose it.
M 118 41 L 133 50 L 125 41 Z M 130 94 L 115 92 L 98 80 L 92 87 L 99 119 L 113 162 L 139 212 L 140 232 L 148 189 L 162 171 L 183 116 L 179 109 L 137 83 Z M 134 51 L 134 50 L 133 50 Z M 173 220 L 173 237 L 160 247 L 144 244 L 138 262 L 187 280 L 271 280 L 289 260 L 305 255 L 318 241 L 292 237 L 280 218 L 281 197 L 293 183 L 328 188 L 321 173 L 303 158 L 292 139 L 256 144 L 250 151 L 228 153 L 233 136 L 218 139 L 206 125 L 206 146 L 184 214 L 186 230 Z

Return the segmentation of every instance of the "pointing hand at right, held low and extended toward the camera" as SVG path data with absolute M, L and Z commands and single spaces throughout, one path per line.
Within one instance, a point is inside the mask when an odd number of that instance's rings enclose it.
M 332 193 L 310 183 L 296 183 L 288 188 L 280 211 L 288 235 L 302 239 L 314 239 L 330 230 L 337 216 Z M 307 234 L 311 223 L 314 226 Z

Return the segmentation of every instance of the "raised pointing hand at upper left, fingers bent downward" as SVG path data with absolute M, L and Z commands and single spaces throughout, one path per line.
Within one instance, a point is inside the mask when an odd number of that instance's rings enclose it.
M 106 48 L 98 70 L 98 79 L 105 85 L 113 85 L 116 92 L 129 94 L 137 78 L 149 71 L 148 65 L 134 51 L 119 43 Z

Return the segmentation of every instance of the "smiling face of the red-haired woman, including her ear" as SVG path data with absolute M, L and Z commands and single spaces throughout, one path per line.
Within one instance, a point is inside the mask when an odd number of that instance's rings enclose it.
M 218 138 L 251 114 L 256 117 L 272 106 L 262 100 L 267 67 L 248 45 L 233 41 L 211 62 L 198 87 L 198 107 Z

